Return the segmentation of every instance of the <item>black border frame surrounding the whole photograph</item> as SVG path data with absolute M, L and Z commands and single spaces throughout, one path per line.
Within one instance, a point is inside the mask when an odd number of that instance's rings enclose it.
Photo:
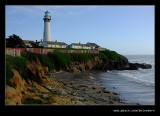
M 0 93 L 0 109 L 1 111 L 4 111 L 5 113 L 11 113 L 11 112 L 17 112 L 20 113 L 21 111 L 27 111 L 26 113 L 31 113 L 31 112 L 48 112 L 47 114 L 50 115 L 50 113 L 70 113 L 74 114 L 73 112 L 84 114 L 84 111 L 89 112 L 89 113 L 102 113 L 103 112 L 114 112 L 114 110 L 119 110 L 119 111 L 124 111 L 124 110 L 153 110 L 157 112 L 159 109 L 159 101 L 158 101 L 158 83 L 160 82 L 160 79 L 158 77 L 159 72 L 158 69 L 160 67 L 158 66 L 160 64 L 159 58 L 158 58 L 158 31 L 160 28 L 158 21 L 160 21 L 160 18 L 158 15 L 160 14 L 160 1 L 158 0 L 111 0 L 111 1 L 92 1 L 92 3 L 88 3 L 87 1 L 51 1 L 51 0 L 39 0 L 38 3 L 37 1 L 35 2 L 30 2 L 29 0 L 27 1 L 22 1 L 22 0 L 6 0 L 6 1 L 0 1 L 0 15 L 1 15 L 1 21 L 0 24 L 2 27 L 1 30 L 1 35 L 0 35 L 0 50 L 1 50 L 1 55 L 0 59 L 0 67 L 1 67 L 1 73 L 4 76 L 1 76 L 0 80 L 0 88 L 1 88 L 1 93 Z M 155 6 L 155 105 L 153 106 L 5 106 L 5 5 L 154 5 Z M 58 114 L 58 115 L 59 115 Z M 51 114 L 55 115 L 55 114 Z M 75 114 L 78 115 L 78 114 Z

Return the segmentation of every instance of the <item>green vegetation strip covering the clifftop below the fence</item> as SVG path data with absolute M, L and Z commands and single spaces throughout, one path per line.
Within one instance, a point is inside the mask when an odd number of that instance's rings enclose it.
M 105 61 L 120 61 L 125 59 L 124 56 L 116 53 L 115 51 L 102 51 L 97 54 L 91 53 L 48 53 L 36 54 L 32 52 L 22 52 L 21 57 L 6 56 L 6 82 L 10 85 L 9 80 L 13 76 L 11 69 L 17 70 L 22 77 L 27 80 L 28 75 L 25 67 L 28 62 L 40 61 L 42 66 L 48 67 L 49 71 L 66 69 L 72 62 L 85 63 L 89 60 L 94 60 L 99 57 L 103 62 Z

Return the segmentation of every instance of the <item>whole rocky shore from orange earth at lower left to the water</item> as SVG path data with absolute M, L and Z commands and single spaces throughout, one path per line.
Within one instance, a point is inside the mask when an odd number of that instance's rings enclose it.
M 59 77 L 55 74 L 59 74 Z M 75 75 L 65 71 L 46 73 L 42 78 L 42 82 L 36 83 L 34 81 L 25 82 L 15 72 L 13 79 L 16 81 L 17 88 L 6 86 L 6 104 L 137 105 L 125 103 L 117 93 L 108 91 L 93 81 L 90 76 L 85 75 L 85 73 Z

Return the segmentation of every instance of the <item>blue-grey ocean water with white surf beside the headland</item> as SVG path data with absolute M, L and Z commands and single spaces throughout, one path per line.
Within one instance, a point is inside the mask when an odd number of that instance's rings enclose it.
M 93 71 L 92 77 L 127 103 L 155 105 L 155 60 L 153 55 L 126 55 L 129 62 L 151 64 L 151 69 Z

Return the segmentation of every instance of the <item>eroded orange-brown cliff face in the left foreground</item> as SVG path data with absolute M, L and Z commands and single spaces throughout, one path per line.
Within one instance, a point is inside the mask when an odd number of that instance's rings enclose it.
M 10 80 L 12 87 L 6 86 L 5 101 L 7 105 L 23 104 L 25 99 L 34 97 L 36 92 L 47 92 L 39 85 L 40 82 L 43 82 L 42 78 L 44 78 L 44 72 L 47 71 L 47 68 L 42 67 L 38 60 L 26 65 L 25 71 L 30 75 L 28 80 L 22 78 L 16 70 L 12 69 L 12 71 L 14 73 Z

